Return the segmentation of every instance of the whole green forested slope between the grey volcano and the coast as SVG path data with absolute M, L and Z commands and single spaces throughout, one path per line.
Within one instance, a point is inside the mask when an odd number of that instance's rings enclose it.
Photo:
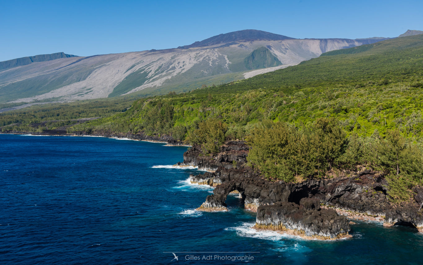
M 133 101 L 133 99 L 132 99 Z M 68 125 L 75 132 L 171 135 L 217 152 L 251 146 L 269 179 L 297 181 L 365 166 L 384 171 L 394 200 L 422 184 L 423 35 L 322 54 L 297 66 L 176 94 L 33 106 L 0 113 L 3 132 Z M 71 126 L 71 119 L 101 117 Z

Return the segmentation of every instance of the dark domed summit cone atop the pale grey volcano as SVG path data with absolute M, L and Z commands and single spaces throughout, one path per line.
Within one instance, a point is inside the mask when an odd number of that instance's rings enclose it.
M 230 43 L 235 41 L 278 41 L 283 39 L 294 39 L 291 37 L 270 33 L 262 30 L 238 30 L 225 34 L 219 34 L 209 39 L 195 41 L 191 45 L 185 45 L 184 48 L 211 46 L 220 43 Z

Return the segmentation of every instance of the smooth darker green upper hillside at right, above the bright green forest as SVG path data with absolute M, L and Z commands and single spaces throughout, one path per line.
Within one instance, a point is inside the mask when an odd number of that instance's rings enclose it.
M 243 80 L 233 90 L 360 84 L 381 79 L 400 82 L 422 75 L 423 35 L 416 35 L 326 52 L 297 66 Z

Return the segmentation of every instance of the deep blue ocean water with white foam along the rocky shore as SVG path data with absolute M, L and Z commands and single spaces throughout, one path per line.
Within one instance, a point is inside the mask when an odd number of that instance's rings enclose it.
M 353 238 L 328 242 L 255 232 L 236 196 L 229 212 L 197 212 L 212 188 L 171 166 L 186 150 L 0 135 L 0 264 L 422 264 L 423 234 L 409 227 L 360 222 Z

